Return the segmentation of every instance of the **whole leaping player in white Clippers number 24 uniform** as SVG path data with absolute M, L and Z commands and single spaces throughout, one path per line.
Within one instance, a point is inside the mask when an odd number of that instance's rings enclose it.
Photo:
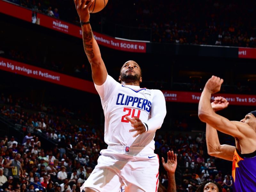
M 84 51 L 104 110 L 108 144 L 81 191 L 119 192 L 125 185 L 125 192 L 156 192 L 159 158 L 153 139 L 166 115 L 164 95 L 160 90 L 140 88 L 141 69 L 135 61 L 122 66 L 121 84 L 108 75 L 89 23 L 88 7 L 93 0 L 74 1 L 82 21 Z

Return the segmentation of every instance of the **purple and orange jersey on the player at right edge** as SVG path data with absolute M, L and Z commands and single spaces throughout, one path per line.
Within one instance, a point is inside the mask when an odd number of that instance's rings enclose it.
M 256 190 L 256 151 L 241 154 L 235 150 L 232 166 L 234 192 L 249 192 Z

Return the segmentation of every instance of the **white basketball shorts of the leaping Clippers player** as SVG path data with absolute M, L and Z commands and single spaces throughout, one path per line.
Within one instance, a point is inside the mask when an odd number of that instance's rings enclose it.
M 97 192 L 156 192 L 159 157 L 144 147 L 108 146 L 100 151 L 98 164 L 80 188 Z

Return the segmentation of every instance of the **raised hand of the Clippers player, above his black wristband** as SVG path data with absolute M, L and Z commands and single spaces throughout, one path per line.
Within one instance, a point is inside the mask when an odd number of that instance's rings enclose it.
M 80 21 L 87 22 L 90 19 L 89 7 L 94 0 L 74 0 L 76 5 L 76 11 L 80 18 Z

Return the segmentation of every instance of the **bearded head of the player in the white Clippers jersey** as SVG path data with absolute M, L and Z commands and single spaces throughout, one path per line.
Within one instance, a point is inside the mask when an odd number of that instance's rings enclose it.
M 141 78 L 141 70 L 138 63 L 135 61 L 127 61 L 124 63 L 120 70 L 119 81 L 123 82 L 135 82 L 135 81 L 142 81 Z

